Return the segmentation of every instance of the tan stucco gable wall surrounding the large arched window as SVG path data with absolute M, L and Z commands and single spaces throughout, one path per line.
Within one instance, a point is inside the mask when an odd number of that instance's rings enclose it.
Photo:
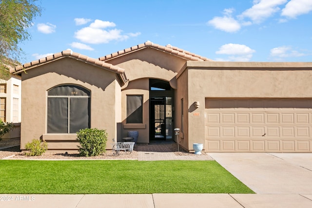
M 34 138 L 47 139 L 49 149 L 77 149 L 76 134 L 46 133 L 47 91 L 63 84 L 91 91 L 91 128 L 106 129 L 108 144 L 116 138 L 116 74 L 65 57 L 22 73 L 21 149 Z

